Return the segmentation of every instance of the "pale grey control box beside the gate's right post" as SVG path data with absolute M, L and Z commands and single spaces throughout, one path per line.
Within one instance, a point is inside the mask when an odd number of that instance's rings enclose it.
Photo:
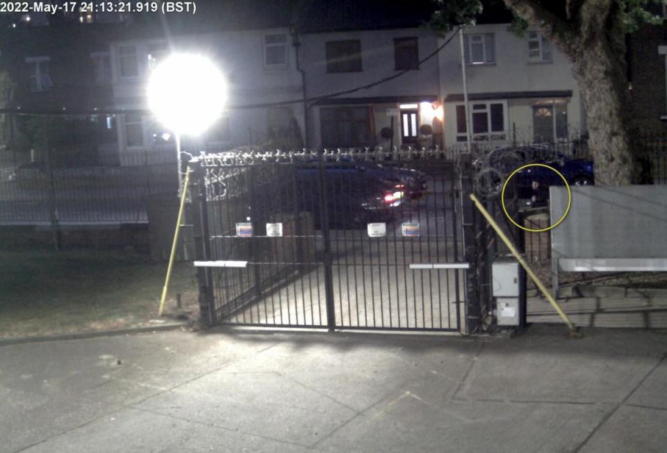
M 498 260 L 491 266 L 493 297 L 499 326 L 525 324 L 525 274 L 517 261 Z

